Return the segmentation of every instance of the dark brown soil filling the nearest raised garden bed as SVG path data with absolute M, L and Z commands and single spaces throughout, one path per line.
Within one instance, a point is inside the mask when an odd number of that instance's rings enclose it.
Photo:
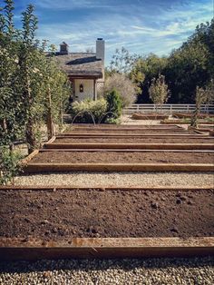
M 214 236 L 213 191 L 0 192 L 0 237 Z

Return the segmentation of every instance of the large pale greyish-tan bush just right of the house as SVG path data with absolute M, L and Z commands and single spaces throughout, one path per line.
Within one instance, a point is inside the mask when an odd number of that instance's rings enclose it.
M 125 75 L 112 74 L 106 79 L 104 93 L 110 93 L 112 89 L 116 89 L 121 94 L 122 108 L 136 101 L 136 86 Z

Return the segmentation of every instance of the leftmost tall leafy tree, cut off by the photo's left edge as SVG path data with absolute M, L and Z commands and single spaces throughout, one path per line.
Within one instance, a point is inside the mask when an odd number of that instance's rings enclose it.
M 21 133 L 21 98 L 17 86 L 17 31 L 13 22 L 14 2 L 0 10 L 0 146 L 12 143 Z

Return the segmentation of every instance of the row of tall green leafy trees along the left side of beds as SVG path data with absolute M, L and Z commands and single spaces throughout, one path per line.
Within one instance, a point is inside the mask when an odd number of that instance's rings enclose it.
M 0 150 L 24 140 L 33 152 L 41 128 L 46 125 L 51 137 L 53 123 L 60 123 L 70 87 L 54 61 L 53 45 L 36 39 L 34 6 L 22 13 L 21 29 L 15 27 L 14 9 L 13 0 L 0 9 Z

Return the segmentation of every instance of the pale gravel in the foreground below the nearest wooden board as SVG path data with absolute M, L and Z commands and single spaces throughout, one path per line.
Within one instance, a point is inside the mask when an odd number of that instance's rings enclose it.
M 0 284 L 214 284 L 214 260 L 40 260 L 0 263 Z

